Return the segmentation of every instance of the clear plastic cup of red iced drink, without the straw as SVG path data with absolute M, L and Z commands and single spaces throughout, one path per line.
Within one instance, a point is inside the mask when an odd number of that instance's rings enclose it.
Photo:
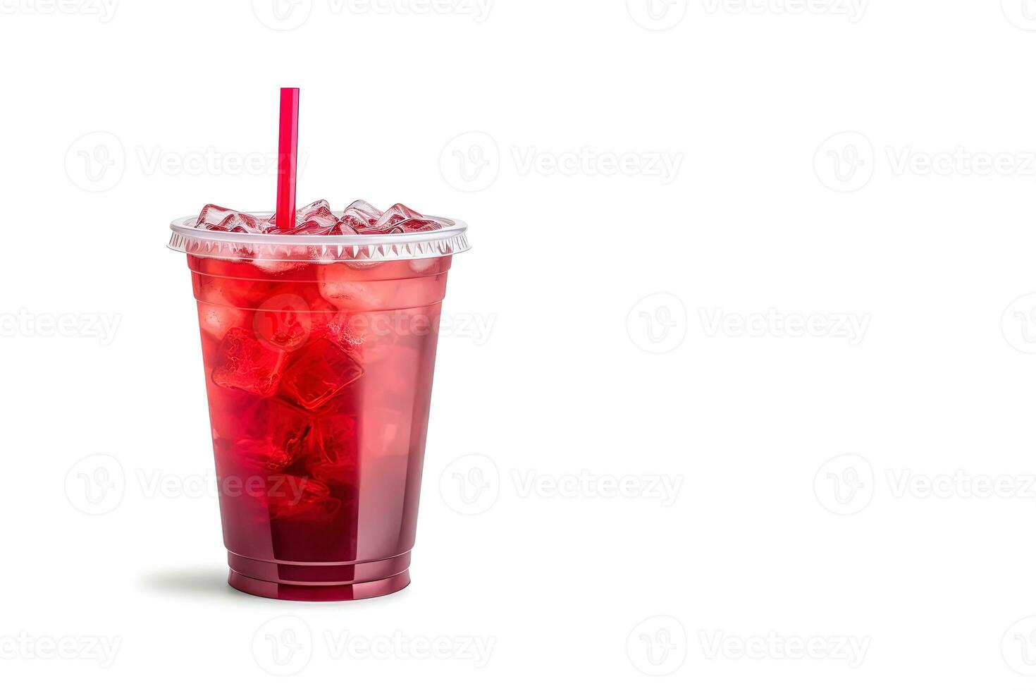
M 198 304 L 230 584 L 321 601 L 405 587 L 466 225 L 305 236 L 194 221 L 173 222 L 169 247 L 186 253 Z

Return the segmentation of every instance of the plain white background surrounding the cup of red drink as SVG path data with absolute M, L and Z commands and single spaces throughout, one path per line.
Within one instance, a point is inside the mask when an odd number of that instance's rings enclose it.
M 1036 3 L 375 5 L 0 0 L 0 683 L 1036 684 Z M 279 86 L 299 202 L 467 220 L 444 312 L 492 323 L 441 339 L 386 598 L 230 589 L 194 487 L 168 223 L 274 205 L 234 162 L 274 153 Z

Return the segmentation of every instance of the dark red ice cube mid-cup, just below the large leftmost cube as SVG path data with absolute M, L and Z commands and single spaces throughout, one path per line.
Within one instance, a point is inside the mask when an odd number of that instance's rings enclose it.
M 247 414 L 244 431 L 235 441 L 242 464 L 279 472 L 306 452 L 313 423 L 305 410 L 270 398 L 259 401 Z

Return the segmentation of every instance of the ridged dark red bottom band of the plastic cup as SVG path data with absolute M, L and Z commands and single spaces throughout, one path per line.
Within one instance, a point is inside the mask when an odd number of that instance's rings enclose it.
M 277 600 L 363 600 L 410 584 L 410 552 L 378 562 L 299 564 L 253 559 L 228 551 L 227 560 L 231 587 Z

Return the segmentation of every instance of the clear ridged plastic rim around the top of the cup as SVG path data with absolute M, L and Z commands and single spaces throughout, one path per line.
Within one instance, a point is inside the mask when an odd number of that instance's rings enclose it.
M 269 212 L 254 214 L 268 218 Z M 380 262 L 433 259 L 470 249 L 467 224 L 456 219 L 424 217 L 443 227 L 412 233 L 370 235 L 277 235 L 232 233 L 195 228 L 197 215 L 177 219 L 169 248 L 197 257 L 261 259 L 264 261 Z

